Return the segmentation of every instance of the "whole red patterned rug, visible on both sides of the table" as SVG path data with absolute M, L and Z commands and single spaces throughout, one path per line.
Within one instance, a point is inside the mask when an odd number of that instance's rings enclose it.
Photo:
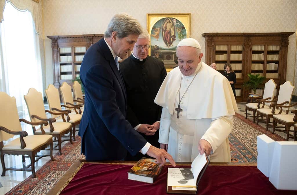
M 236 113 L 233 117 L 233 130 L 229 135 L 232 162 L 257 162 L 257 136 L 261 134 L 266 134 L 276 141 L 285 141 L 281 136 L 266 131 Z M 62 148 L 63 155 L 54 156 L 55 161 L 49 160 L 37 170 L 37 178 L 29 176 L 7 194 L 47 194 L 73 162 L 80 158 L 81 139 L 79 136 L 76 136 L 76 139 L 73 145 L 65 144 Z

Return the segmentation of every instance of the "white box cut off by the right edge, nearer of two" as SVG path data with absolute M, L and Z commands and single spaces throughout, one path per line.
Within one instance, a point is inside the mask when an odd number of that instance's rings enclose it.
M 276 141 L 269 181 L 279 190 L 297 190 L 297 141 Z

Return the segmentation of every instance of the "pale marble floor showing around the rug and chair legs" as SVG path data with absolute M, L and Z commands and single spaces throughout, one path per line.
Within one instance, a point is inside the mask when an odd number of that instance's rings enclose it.
M 246 103 L 244 102 L 238 102 L 237 106 L 238 106 L 238 113 L 245 116 L 245 105 Z M 47 109 L 48 106 L 45 105 L 45 108 Z M 296 107 L 294 108 L 296 109 Z M 20 116 L 22 117 L 22 116 Z M 50 116 L 48 116 L 50 117 Z M 23 118 L 25 118 L 26 120 L 30 120 L 28 115 L 23 116 Z M 248 117 L 249 120 L 252 120 L 252 117 Z M 32 135 L 33 134 L 33 130 L 31 128 L 31 125 L 28 124 L 22 124 L 22 128 L 23 130 L 26 130 L 28 132 L 28 135 Z M 259 125 L 265 127 L 266 125 L 264 123 L 259 123 Z M 276 132 L 277 134 L 279 134 L 280 136 L 285 138 L 285 133 L 281 133 L 281 132 Z M 76 132 L 77 134 L 77 132 Z M 18 136 L 15 136 L 15 138 L 18 138 Z M 293 141 L 293 139 L 290 139 L 290 141 Z M 67 143 L 67 141 L 64 141 L 62 143 L 62 146 L 64 146 Z M 4 143 L 5 144 L 5 143 Z M 56 154 L 57 151 L 53 151 L 53 155 Z M 49 154 L 49 151 L 46 150 L 42 150 L 40 153 L 38 154 Z M 22 157 L 19 156 L 14 156 L 14 155 L 5 155 L 4 156 L 4 160 L 5 160 L 5 166 L 6 167 L 16 167 L 16 168 L 21 168 L 23 166 L 22 163 Z M 44 165 L 48 160 L 50 160 L 50 157 L 43 157 L 40 160 L 38 160 L 37 162 L 35 162 L 35 171 L 37 171 L 40 167 L 42 167 L 42 165 Z M 26 165 L 29 164 L 29 159 L 26 158 Z M 2 166 L 0 169 L 0 173 L 2 173 Z M 14 186 L 18 185 L 18 183 L 22 182 L 23 180 L 25 180 L 27 177 L 29 177 L 31 175 L 31 172 L 25 172 L 25 171 L 6 171 L 6 175 L 4 177 L 0 177 L 0 194 L 5 194 L 8 191 L 10 191 Z

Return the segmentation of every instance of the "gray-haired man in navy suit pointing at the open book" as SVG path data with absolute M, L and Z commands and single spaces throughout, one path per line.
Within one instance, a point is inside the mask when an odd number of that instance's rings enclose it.
M 142 28 L 132 16 L 116 14 L 104 39 L 94 43 L 83 58 L 80 79 L 85 107 L 78 134 L 86 160 L 122 160 L 128 151 L 148 154 L 161 164 L 166 158 L 175 166 L 170 154 L 149 144 L 126 120 L 127 95 L 117 56 L 125 58 L 140 33 Z

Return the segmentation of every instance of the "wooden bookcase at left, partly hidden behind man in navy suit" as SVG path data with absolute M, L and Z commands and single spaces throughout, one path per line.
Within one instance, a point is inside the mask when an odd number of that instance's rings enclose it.
M 63 82 L 70 86 L 79 76 L 79 70 L 86 50 L 103 38 L 103 34 L 47 36 L 52 41 L 53 85 L 59 89 Z

